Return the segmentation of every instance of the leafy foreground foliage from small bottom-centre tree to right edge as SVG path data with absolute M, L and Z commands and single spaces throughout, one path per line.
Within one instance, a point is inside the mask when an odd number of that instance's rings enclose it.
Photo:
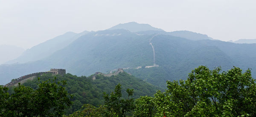
M 127 92 L 128 96 L 132 95 L 131 89 Z M 199 66 L 189 73 L 186 81 L 167 81 L 165 92 L 159 90 L 154 97 L 141 96 L 135 100 L 135 106 L 134 100 L 125 101 L 121 97 L 119 84 L 110 95 L 104 95 L 108 114 L 106 111 L 100 113 L 125 117 L 127 109 L 135 117 L 256 116 L 256 82 L 250 69 L 243 73 L 238 67 L 221 72 L 220 67 L 209 70 Z

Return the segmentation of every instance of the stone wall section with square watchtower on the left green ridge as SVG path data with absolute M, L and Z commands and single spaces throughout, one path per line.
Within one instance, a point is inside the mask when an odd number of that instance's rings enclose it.
M 27 80 L 32 80 L 32 79 L 36 78 L 37 76 L 40 76 L 43 74 L 64 75 L 64 74 L 66 74 L 66 70 L 65 69 L 51 69 L 49 72 L 35 72 L 32 74 L 21 76 L 20 78 L 16 78 L 16 79 L 14 79 L 14 81 L 11 81 L 4 86 L 17 86 L 18 83 L 23 84 Z

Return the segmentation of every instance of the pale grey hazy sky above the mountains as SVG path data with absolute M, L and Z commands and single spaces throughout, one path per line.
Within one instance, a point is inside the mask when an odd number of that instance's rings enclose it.
M 256 39 L 256 0 L 0 0 L 0 45 L 30 48 L 67 31 L 119 23 Z

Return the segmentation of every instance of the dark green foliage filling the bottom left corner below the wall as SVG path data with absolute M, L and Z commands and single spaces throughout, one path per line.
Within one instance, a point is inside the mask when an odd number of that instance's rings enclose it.
M 64 109 L 71 106 L 71 96 L 61 85 L 50 80 L 38 84 L 37 89 L 18 85 L 14 93 L 9 95 L 8 88 L 0 86 L 0 116 L 33 117 L 57 116 L 64 114 Z

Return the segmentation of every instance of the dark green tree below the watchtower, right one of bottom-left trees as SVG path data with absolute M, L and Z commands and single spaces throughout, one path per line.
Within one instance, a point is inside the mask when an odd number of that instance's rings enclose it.
M 58 84 L 51 83 L 50 80 L 39 84 L 39 88 L 35 90 L 35 106 L 37 106 L 35 114 L 39 116 L 62 116 L 64 109 L 72 105 L 71 95 L 63 86 Z M 66 81 L 62 81 L 62 85 L 66 84 Z

